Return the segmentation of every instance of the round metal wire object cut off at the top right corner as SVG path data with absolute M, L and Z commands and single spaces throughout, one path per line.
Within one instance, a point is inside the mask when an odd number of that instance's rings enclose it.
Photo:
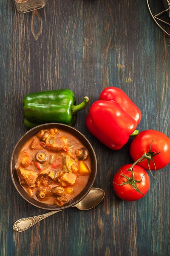
M 170 0 L 147 0 L 147 6 L 156 24 L 170 35 Z

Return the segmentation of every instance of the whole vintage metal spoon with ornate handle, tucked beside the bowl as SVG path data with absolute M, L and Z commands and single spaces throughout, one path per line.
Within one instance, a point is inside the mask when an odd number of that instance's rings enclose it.
M 94 208 L 96 205 L 98 205 L 102 201 L 104 196 L 105 192 L 102 189 L 92 188 L 88 195 L 86 195 L 85 198 L 82 199 L 82 201 L 80 201 L 73 207 L 77 207 L 79 210 L 82 211 L 90 210 Z M 48 216 L 61 211 L 63 210 L 51 211 L 42 215 L 29 218 L 22 218 L 14 223 L 13 230 L 23 232 L 25 230 L 28 230 L 28 228 L 32 227 L 33 225 L 37 224 L 39 221 L 42 221 L 43 219 L 47 218 Z

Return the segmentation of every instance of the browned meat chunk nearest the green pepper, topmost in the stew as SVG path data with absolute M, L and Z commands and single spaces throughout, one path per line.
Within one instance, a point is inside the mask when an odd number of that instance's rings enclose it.
M 68 138 L 65 136 L 59 138 L 48 137 L 45 141 L 45 148 L 54 151 L 68 151 Z

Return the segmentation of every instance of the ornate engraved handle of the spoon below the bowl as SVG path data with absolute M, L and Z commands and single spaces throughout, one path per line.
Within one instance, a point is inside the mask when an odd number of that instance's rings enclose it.
M 61 211 L 62 210 L 52 211 L 52 212 L 47 212 L 45 214 L 34 216 L 34 217 L 22 218 L 18 221 L 15 221 L 13 230 L 16 230 L 18 232 L 23 232 L 25 230 L 28 230 L 28 228 L 32 227 L 33 225 L 37 224 L 39 221 L 42 221 L 43 219 L 47 218 L 48 216 Z

